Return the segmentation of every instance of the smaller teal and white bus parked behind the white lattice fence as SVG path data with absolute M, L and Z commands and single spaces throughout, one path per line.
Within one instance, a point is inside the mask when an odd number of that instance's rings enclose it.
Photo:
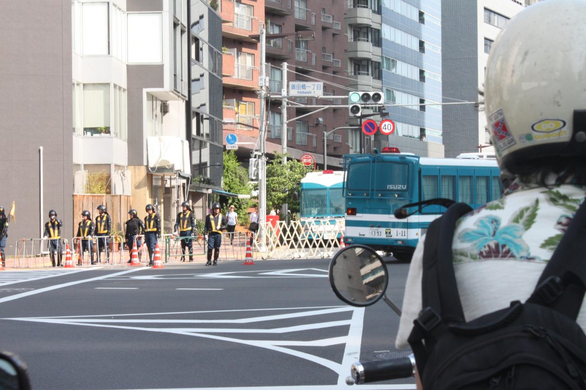
M 301 179 L 299 216 L 305 233 L 312 232 L 309 234 L 310 239 L 316 232 L 333 230 L 339 230 L 340 233 L 336 232 L 333 236 L 328 234 L 325 238 L 341 236 L 338 225 L 343 223 L 346 212 L 345 199 L 342 196 L 344 178 L 342 171 L 326 170 L 309 172 Z

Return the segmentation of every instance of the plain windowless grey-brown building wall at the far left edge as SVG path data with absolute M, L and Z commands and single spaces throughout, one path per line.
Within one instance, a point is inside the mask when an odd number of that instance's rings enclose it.
M 50 209 L 73 235 L 70 12 L 71 0 L 2 4 L 0 206 L 16 205 L 7 256 L 22 237 L 42 236 Z M 23 28 L 31 20 L 35 28 Z

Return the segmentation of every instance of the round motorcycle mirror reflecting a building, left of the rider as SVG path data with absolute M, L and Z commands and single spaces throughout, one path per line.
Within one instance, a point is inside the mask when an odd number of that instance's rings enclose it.
M 352 306 L 370 306 L 387 289 L 389 274 L 383 259 L 364 245 L 350 245 L 336 253 L 329 266 L 333 292 Z

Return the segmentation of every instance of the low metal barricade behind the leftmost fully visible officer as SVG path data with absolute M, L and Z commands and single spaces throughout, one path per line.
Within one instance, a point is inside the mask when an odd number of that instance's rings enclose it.
M 49 242 L 50 239 L 21 239 L 16 241 L 13 258 L 6 258 L 6 268 L 49 268 L 53 267 L 51 261 Z M 62 247 L 62 264 L 65 261 L 66 239 L 60 239 Z M 54 254 L 57 263 L 57 251 Z

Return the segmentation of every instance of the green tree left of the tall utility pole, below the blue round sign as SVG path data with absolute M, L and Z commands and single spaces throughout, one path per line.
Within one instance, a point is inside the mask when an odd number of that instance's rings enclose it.
M 242 167 L 233 150 L 224 151 L 224 191 L 232 194 L 250 194 L 252 191 L 248 182 L 248 170 Z M 247 225 L 248 208 L 252 205 L 252 201 L 230 198 L 229 203 L 234 205 L 240 224 Z M 222 205 L 222 209 L 227 211 L 228 204 Z

